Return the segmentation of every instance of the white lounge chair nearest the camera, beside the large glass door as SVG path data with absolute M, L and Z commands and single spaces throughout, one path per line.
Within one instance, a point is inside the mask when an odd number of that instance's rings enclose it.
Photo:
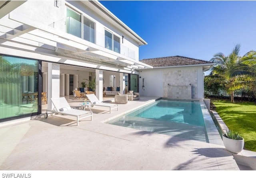
M 76 110 L 72 109 L 70 105 L 68 104 L 66 98 L 60 97 L 60 98 L 51 98 L 52 104 L 54 105 L 53 110 L 46 110 L 46 113 L 44 113 L 44 118 L 48 117 L 48 112 L 51 113 L 60 113 L 63 115 L 71 115 L 75 116 L 77 120 L 77 124 L 79 122 L 79 119 L 84 119 L 86 117 L 91 117 L 92 120 L 92 111 L 84 111 L 84 110 Z M 89 108 L 90 109 L 90 108 Z

